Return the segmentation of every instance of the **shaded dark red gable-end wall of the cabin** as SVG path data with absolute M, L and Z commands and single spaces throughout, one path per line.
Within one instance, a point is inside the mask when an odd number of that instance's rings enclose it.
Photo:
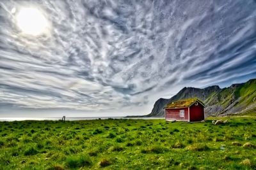
M 202 104 L 198 103 L 196 106 L 193 104 L 189 107 L 189 115 L 190 115 L 190 122 L 196 122 L 204 120 L 204 106 Z

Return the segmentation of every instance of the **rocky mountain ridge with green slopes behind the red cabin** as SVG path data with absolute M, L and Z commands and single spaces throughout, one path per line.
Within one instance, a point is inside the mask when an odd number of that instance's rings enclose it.
M 256 111 L 256 79 L 221 89 L 218 85 L 198 89 L 184 87 L 170 99 L 160 98 L 147 117 L 164 117 L 164 105 L 180 99 L 198 97 L 206 106 L 205 115 L 228 115 Z

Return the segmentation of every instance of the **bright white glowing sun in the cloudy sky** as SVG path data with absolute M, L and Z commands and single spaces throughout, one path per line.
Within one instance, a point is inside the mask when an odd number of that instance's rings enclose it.
M 16 22 L 22 33 L 38 36 L 47 32 L 49 23 L 42 11 L 37 8 L 21 8 Z

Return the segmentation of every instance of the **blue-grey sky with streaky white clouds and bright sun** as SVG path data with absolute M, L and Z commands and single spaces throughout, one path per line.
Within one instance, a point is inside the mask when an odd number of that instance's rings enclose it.
M 256 78 L 256 1 L 0 1 L 0 117 L 146 115 Z

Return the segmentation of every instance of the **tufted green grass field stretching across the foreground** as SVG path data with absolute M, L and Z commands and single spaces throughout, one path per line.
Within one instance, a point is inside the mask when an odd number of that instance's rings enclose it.
M 256 117 L 0 122 L 0 169 L 255 169 Z

